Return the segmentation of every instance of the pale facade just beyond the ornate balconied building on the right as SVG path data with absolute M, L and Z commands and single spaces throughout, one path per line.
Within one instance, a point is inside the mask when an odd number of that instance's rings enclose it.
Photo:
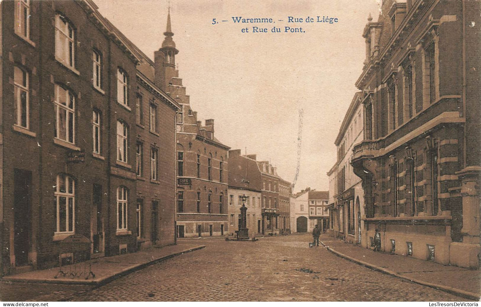
M 362 242 L 364 216 L 364 190 L 361 179 L 351 166 L 353 148 L 364 139 L 364 106 L 362 93 L 357 92 L 346 112 L 338 136 L 335 140 L 337 162 L 329 170 L 330 200 L 329 232 L 350 243 Z M 367 246 L 367 245 L 366 245 Z

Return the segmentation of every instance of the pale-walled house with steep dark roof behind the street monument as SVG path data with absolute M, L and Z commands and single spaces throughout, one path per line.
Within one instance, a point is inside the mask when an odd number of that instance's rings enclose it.
M 229 150 L 229 229 L 234 235 L 239 230 L 242 196 L 246 196 L 246 227 L 249 237 L 262 233 L 261 172 L 255 154 L 241 155 L 241 150 Z

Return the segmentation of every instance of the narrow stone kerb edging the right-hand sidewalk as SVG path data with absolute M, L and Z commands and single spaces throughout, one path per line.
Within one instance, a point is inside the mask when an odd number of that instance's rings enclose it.
M 418 284 L 423 285 L 423 286 L 427 286 L 427 287 L 430 287 L 430 288 L 441 290 L 443 292 L 455 294 L 457 296 L 462 296 L 462 297 L 468 298 L 468 299 L 473 300 L 473 301 L 479 301 L 480 300 L 480 294 L 476 294 L 476 293 L 473 293 L 473 292 L 469 292 L 469 291 L 465 291 L 465 290 L 461 290 L 461 289 L 457 289 L 457 288 L 453 288 L 453 287 L 449 287 L 449 286 L 444 286 L 444 285 L 437 284 L 437 283 L 422 281 L 422 280 L 411 278 L 411 277 L 408 277 L 408 276 L 405 276 L 405 275 L 402 275 L 402 274 L 398 274 L 398 273 L 396 273 L 392 270 L 381 268 L 381 267 L 378 267 L 378 266 L 373 265 L 371 263 L 367 263 L 365 261 L 356 259 L 354 257 L 342 254 L 342 253 L 334 250 L 333 248 L 329 247 L 328 245 L 326 245 L 322 241 L 320 241 L 320 243 L 322 244 L 322 246 L 324 246 L 329 252 L 333 253 L 334 255 L 340 256 L 344 259 L 347 259 L 347 260 L 352 261 L 354 263 L 360 264 L 360 265 L 362 265 L 364 267 L 367 267 L 369 269 L 373 269 L 375 271 L 378 271 L 378 272 L 381 272 L 381 273 L 384 273 L 384 274 L 388 274 L 388 275 L 391 275 L 391 276 L 394 276 L 394 277 L 397 277 L 397 278 L 401 278 L 401 279 L 404 279 L 404 280 L 412 281 L 414 283 L 418 283 Z

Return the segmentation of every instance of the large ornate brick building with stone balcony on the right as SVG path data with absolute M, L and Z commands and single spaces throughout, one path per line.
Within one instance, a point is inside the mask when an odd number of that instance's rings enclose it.
M 368 18 L 362 90 L 362 245 L 442 264 L 480 263 L 480 6 L 384 0 Z

